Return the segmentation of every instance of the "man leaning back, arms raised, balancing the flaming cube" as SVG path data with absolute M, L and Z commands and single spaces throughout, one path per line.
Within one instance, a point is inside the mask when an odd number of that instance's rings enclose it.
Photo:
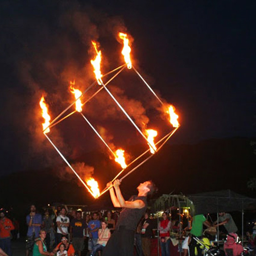
M 123 209 L 118 218 L 115 231 L 103 251 L 103 256 L 133 255 L 135 229 L 146 212 L 147 196 L 152 195 L 156 190 L 152 181 L 145 181 L 137 187 L 138 195 L 131 196 L 128 201 L 125 201 L 119 188 L 120 184 L 119 180 L 115 180 L 114 189 L 113 187 L 109 189 L 114 207 L 122 207 Z M 112 183 L 109 182 L 107 186 L 112 186 Z

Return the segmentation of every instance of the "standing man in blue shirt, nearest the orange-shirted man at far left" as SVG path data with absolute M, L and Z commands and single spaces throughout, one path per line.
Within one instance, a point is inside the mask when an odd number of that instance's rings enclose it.
M 28 256 L 33 250 L 35 238 L 39 236 L 42 225 L 42 215 L 36 213 L 36 207 L 34 204 L 32 204 L 30 207 L 30 214 L 27 215 L 26 221 L 28 225 L 26 255 Z

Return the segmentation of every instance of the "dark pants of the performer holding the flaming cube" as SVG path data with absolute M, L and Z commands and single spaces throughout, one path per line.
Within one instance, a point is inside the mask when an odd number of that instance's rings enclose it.
M 134 234 L 133 230 L 120 226 L 109 238 L 102 256 L 133 256 Z

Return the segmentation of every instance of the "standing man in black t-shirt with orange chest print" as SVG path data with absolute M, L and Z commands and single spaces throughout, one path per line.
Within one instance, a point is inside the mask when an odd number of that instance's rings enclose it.
M 77 210 L 76 218 L 71 221 L 71 240 L 79 256 L 81 256 L 81 251 L 84 250 L 84 229 L 86 228 L 85 220 L 82 220 L 82 212 Z

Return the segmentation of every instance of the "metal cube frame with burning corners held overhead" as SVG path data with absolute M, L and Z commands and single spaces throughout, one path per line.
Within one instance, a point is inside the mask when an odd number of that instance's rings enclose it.
M 95 97 L 102 89 L 105 89 L 106 92 L 108 92 L 109 96 L 113 99 L 113 101 L 115 102 L 115 104 L 117 104 L 118 108 L 122 110 L 122 112 L 126 115 L 127 119 L 129 119 L 129 121 L 134 125 L 135 129 L 137 129 L 137 131 L 139 132 L 139 134 L 142 135 L 142 137 L 147 141 L 147 144 L 149 146 L 152 147 L 152 145 L 148 142 L 146 136 L 143 134 L 143 132 L 141 131 L 141 129 L 139 129 L 139 127 L 135 124 L 135 122 L 133 121 L 133 119 L 131 119 L 131 117 L 129 116 L 129 114 L 127 114 L 126 110 L 122 107 L 122 105 L 116 100 L 116 98 L 113 96 L 113 94 L 110 92 L 110 90 L 107 88 L 107 85 L 113 80 L 115 79 L 115 77 L 117 77 L 122 71 L 123 69 L 125 69 L 126 64 L 121 65 L 118 68 L 113 69 L 112 71 L 106 73 L 105 75 L 102 76 L 106 77 L 107 75 L 110 75 L 112 73 L 114 73 L 114 75 L 107 81 L 107 82 L 102 82 L 101 85 L 97 84 L 97 80 L 94 81 L 90 86 L 88 86 L 88 88 L 86 88 L 84 90 L 84 92 L 81 94 L 81 96 L 79 98 L 77 98 L 75 101 L 72 102 L 71 105 L 69 105 L 66 109 L 63 110 L 63 112 L 61 112 L 59 115 L 57 115 L 57 117 L 55 119 L 53 119 L 53 121 L 49 124 L 48 127 L 46 127 L 43 132 L 44 135 L 46 136 L 46 138 L 48 139 L 48 141 L 52 144 L 52 146 L 55 148 L 55 150 L 58 152 L 58 154 L 61 156 L 61 158 L 63 158 L 64 162 L 68 165 L 69 168 L 71 168 L 71 170 L 74 172 L 74 174 L 79 178 L 79 180 L 81 181 L 81 183 L 86 187 L 86 189 L 88 189 L 88 191 L 91 193 L 91 195 L 93 196 L 93 193 L 91 191 L 91 189 L 88 187 L 88 185 L 86 185 L 86 183 L 81 179 L 81 177 L 77 174 L 77 172 L 73 169 L 73 167 L 71 166 L 71 164 L 68 162 L 68 160 L 64 157 L 64 155 L 60 152 L 60 150 L 56 147 L 56 145 L 51 141 L 51 139 L 48 137 L 48 135 L 45 133 L 45 131 L 48 128 L 52 128 L 53 126 L 56 126 L 58 123 L 60 123 L 61 121 L 63 121 L 64 119 L 67 119 L 68 117 L 70 117 L 72 114 L 75 114 L 77 111 L 73 111 L 67 115 L 65 115 L 63 117 L 63 115 L 74 105 L 76 104 L 76 101 L 79 100 L 86 92 L 88 92 L 91 88 L 93 88 L 93 86 L 97 85 L 100 86 L 100 88 L 92 95 L 90 96 L 88 99 L 86 99 L 86 101 L 82 104 L 82 106 L 84 106 L 87 102 L 89 102 L 93 97 Z M 154 90 L 152 90 L 152 88 L 150 87 L 150 85 L 148 85 L 148 83 L 146 82 L 146 80 L 143 79 L 143 77 L 141 76 L 141 74 L 137 71 L 137 69 L 135 69 L 133 67 L 133 70 L 135 73 L 137 73 L 137 75 L 141 78 L 141 80 L 144 82 L 144 84 L 146 84 L 147 88 L 150 90 L 150 92 L 158 99 L 158 101 L 160 102 L 160 104 L 164 105 L 163 101 L 160 100 L 160 98 L 156 95 L 156 93 L 154 92 Z M 88 123 L 88 125 L 93 129 L 93 131 L 96 133 L 96 135 L 101 139 L 101 141 L 105 144 L 106 147 L 108 147 L 109 151 L 112 152 L 112 154 L 114 156 L 115 153 L 113 152 L 113 150 L 110 148 L 110 146 L 108 145 L 108 143 L 104 140 L 104 138 L 101 137 L 100 133 L 98 133 L 98 131 L 95 129 L 95 127 L 92 125 L 92 123 L 89 122 L 88 118 L 85 117 L 84 114 L 80 113 L 82 118 L 85 119 L 85 121 Z M 159 147 L 157 148 L 157 150 L 155 150 L 155 152 L 158 152 L 160 150 L 160 148 L 163 147 L 163 145 L 168 141 L 168 139 L 170 139 L 172 137 L 172 135 L 175 133 L 175 131 L 178 129 L 179 127 L 174 128 L 173 130 L 170 131 L 170 133 L 164 135 L 163 138 L 161 138 L 158 142 L 156 142 L 156 145 L 159 145 Z M 130 175 L 132 172 L 134 172 L 135 170 L 137 170 L 138 167 L 140 167 L 143 163 L 147 162 L 148 159 L 150 159 L 154 154 L 150 154 L 149 156 L 146 157 L 146 154 L 150 152 L 150 148 L 148 148 L 148 150 L 146 150 L 145 152 L 143 152 L 141 155 L 139 155 L 137 158 L 133 159 L 129 164 L 127 164 L 127 167 L 125 169 L 122 169 L 112 180 L 112 182 L 117 179 L 117 177 L 119 177 L 125 170 L 128 170 L 128 168 L 131 168 L 131 170 L 129 172 L 127 172 L 124 176 L 121 177 L 120 180 L 125 179 L 125 177 L 127 177 L 128 175 Z M 144 158 L 143 158 L 144 156 Z M 140 162 L 138 162 L 138 160 L 141 160 Z M 137 163 L 137 165 L 135 165 L 135 163 Z M 103 195 L 106 191 L 108 191 L 111 187 L 106 187 L 102 190 L 102 192 L 100 193 L 100 196 Z

